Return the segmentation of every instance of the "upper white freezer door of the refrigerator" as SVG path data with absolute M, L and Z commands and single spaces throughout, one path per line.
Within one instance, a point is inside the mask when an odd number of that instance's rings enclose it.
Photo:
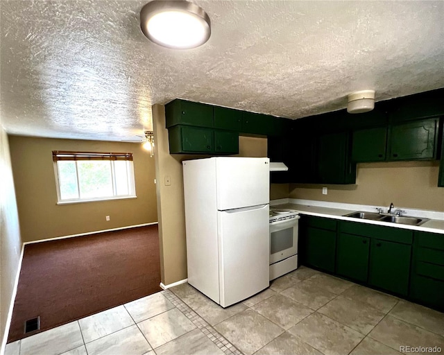
M 235 209 L 270 202 L 270 159 L 217 157 L 217 209 Z

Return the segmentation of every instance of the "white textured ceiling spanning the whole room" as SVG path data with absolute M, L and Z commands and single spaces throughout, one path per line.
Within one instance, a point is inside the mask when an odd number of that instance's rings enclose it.
M 1 124 L 10 134 L 134 139 L 186 98 L 297 119 L 444 87 L 444 1 L 194 1 L 212 37 L 151 43 L 148 1 L 0 1 Z

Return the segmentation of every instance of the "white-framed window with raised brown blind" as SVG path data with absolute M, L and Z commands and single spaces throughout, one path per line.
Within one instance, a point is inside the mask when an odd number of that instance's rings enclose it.
M 135 197 L 132 153 L 53 150 L 58 202 Z

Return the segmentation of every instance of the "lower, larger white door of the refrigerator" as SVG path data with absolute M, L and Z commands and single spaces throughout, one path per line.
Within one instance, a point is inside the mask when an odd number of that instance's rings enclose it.
M 223 307 L 269 285 L 268 205 L 218 212 L 219 290 Z

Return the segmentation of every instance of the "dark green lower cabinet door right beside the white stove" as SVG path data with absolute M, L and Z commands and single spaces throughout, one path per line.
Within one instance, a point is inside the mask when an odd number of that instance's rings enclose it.
M 307 266 L 334 272 L 336 232 L 307 227 L 304 236 L 304 260 Z

